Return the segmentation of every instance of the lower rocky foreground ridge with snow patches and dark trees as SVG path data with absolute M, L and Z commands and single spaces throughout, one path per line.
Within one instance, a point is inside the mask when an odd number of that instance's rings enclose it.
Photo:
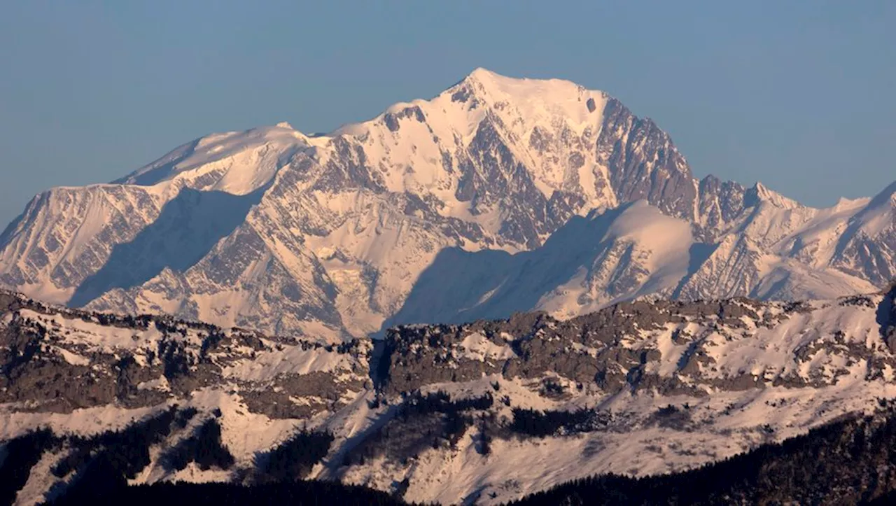
M 4 293 L 0 455 L 19 503 L 297 478 L 508 502 L 586 476 L 684 471 L 873 412 L 896 396 L 894 302 L 896 287 L 636 301 L 569 320 L 403 325 L 371 349 Z

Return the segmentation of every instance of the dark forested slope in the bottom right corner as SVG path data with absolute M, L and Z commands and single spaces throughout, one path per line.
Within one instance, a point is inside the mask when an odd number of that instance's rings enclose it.
M 893 407 L 883 404 L 872 416 L 849 416 L 693 471 L 596 476 L 510 504 L 892 504 L 894 428 Z

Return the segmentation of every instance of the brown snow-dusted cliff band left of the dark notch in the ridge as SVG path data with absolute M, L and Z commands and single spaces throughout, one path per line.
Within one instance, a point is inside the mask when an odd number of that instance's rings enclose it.
M 235 393 L 255 413 L 307 418 L 341 406 L 368 382 L 358 341 L 270 338 L 164 316 L 62 309 L 7 293 L 0 308 L 0 403 L 16 410 L 152 407 L 213 388 Z

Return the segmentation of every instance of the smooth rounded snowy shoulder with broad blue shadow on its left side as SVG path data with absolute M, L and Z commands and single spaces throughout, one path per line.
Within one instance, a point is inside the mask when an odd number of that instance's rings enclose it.
M 560 317 L 669 293 L 686 275 L 691 227 L 646 202 L 573 217 L 529 252 L 443 250 L 389 322 L 469 322 L 530 308 Z

